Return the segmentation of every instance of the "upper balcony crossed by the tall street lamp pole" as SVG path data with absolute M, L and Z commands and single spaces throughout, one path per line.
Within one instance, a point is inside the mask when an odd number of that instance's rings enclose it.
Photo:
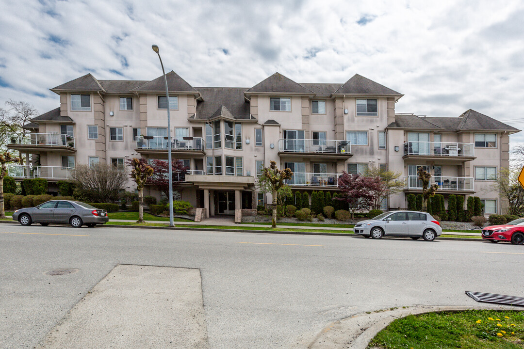
M 140 154 L 165 154 L 168 150 L 168 137 L 137 136 L 136 150 Z M 200 137 L 171 137 L 173 154 L 205 154 L 204 140 Z

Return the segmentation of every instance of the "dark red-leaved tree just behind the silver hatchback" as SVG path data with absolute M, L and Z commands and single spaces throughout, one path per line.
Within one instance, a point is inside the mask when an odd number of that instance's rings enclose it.
M 380 191 L 380 178 L 352 175 L 343 171 L 339 177 L 339 189 L 343 197 L 336 199 L 345 200 L 350 204 L 351 219 L 354 219 L 356 211 L 368 210 L 373 206 Z

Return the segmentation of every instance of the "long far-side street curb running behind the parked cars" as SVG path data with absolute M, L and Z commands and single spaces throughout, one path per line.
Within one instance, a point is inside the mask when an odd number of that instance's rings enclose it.
M 18 224 L 15 221 L 0 221 L 0 223 Z M 241 229 L 212 229 L 212 228 L 180 228 L 180 227 L 147 227 L 147 226 L 120 226 L 118 224 L 104 224 L 104 227 L 111 228 L 133 228 L 133 229 L 161 229 L 161 230 L 190 230 L 190 231 L 214 231 L 214 232 L 232 232 L 232 233 L 257 233 L 257 234 L 289 234 L 289 235 L 321 235 L 332 237 L 361 238 L 355 233 L 320 233 L 311 231 L 269 231 L 269 230 L 241 230 Z M 364 239 L 364 238 L 363 238 Z M 398 239 L 396 237 L 384 237 L 383 239 Z M 401 238 L 400 238 L 401 239 Z M 435 240 L 455 240 L 455 241 L 479 241 L 484 240 L 477 238 L 436 238 Z

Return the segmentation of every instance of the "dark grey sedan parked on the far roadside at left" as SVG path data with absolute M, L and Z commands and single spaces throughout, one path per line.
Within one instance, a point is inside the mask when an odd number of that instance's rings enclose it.
M 71 224 L 73 228 L 80 228 L 83 224 L 93 228 L 96 224 L 109 221 L 107 211 L 101 210 L 80 201 L 51 200 L 37 207 L 22 208 L 13 213 L 13 220 L 23 226 L 40 223 L 47 226 L 49 223 Z

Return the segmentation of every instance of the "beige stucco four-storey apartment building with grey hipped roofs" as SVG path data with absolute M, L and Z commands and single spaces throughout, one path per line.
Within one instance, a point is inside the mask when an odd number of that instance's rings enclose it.
M 519 132 L 474 110 L 458 117 L 396 114 L 403 95 L 355 74 L 345 83 L 297 83 L 275 73 L 253 87 L 193 87 L 178 74 L 152 81 L 97 80 L 87 74 L 51 88 L 60 107 L 11 134 L 8 147 L 27 156 L 13 165 L 17 179 L 43 177 L 50 190 L 77 164 L 111 163 L 172 154 L 190 170 L 176 175 L 177 198 L 205 208 L 206 216 L 232 215 L 271 202 L 256 177 L 271 160 L 291 168 L 294 190 L 337 190 L 337 178 L 369 166 L 402 173 L 403 193 L 384 209 L 406 208 L 420 193 L 424 167 L 439 193 L 479 196 L 486 213 L 504 209 L 491 188 L 509 166 L 509 135 Z M 167 137 L 167 108 L 171 139 Z M 31 159 L 31 160 L 29 160 Z M 134 190 L 130 180 L 127 190 Z M 146 195 L 160 197 L 147 187 Z

